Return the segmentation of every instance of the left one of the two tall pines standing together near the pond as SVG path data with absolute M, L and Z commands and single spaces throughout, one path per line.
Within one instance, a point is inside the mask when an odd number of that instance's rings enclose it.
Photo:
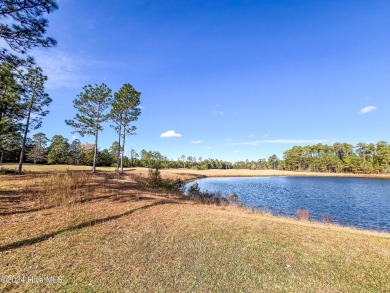
M 111 90 L 102 83 L 101 85 L 87 85 L 78 99 L 73 101 L 78 110 L 74 120 L 65 120 L 65 123 L 75 128 L 81 136 L 92 135 L 95 137 L 92 172 L 96 172 L 96 158 L 98 151 L 99 131 L 103 130 L 102 123 L 107 121 L 108 115 L 104 114 L 111 102 Z

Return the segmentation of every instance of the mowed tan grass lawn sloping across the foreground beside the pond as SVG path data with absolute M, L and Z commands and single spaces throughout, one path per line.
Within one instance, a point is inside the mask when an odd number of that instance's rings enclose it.
M 133 175 L 90 175 L 79 203 L 36 210 L 36 176 L 0 176 L 0 275 L 63 281 L 0 290 L 390 291 L 388 233 L 196 204 Z

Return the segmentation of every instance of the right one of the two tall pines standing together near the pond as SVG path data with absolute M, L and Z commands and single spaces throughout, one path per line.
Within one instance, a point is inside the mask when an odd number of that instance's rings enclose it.
M 141 114 L 140 105 L 141 93 L 137 92 L 134 87 L 128 83 L 124 84 L 118 92 L 114 94 L 112 110 L 110 113 L 111 120 L 115 123 L 114 129 L 119 134 L 119 146 L 121 148 L 120 169 L 123 173 L 123 158 L 125 152 L 126 136 L 135 134 L 137 129 L 132 122 L 138 119 Z M 122 145 L 120 139 L 122 138 Z

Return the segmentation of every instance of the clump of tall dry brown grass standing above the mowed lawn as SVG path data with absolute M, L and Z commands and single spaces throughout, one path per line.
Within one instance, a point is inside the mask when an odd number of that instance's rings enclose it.
M 37 200 L 41 206 L 62 206 L 79 202 L 88 196 L 87 186 L 89 175 L 86 173 L 50 173 L 40 180 L 44 192 Z

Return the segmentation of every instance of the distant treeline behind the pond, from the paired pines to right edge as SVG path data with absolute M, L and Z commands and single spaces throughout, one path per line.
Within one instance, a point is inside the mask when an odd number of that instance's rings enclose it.
M 329 173 L 389 173 L 390 144 L 386 141 L 374 143 L 348 143 L 333 145 L 316 144 L 294 146 L 283 153 L 283 158 L 271 155 L 267 159 L 229 162 L 218 159 L 182 155 L 178 159 L 168 159 L 158 151 L 142 150 L 137 154 L 131 150 L 131 167 L 190 168 L 206 169 L 251 169 L 286 170 Z

